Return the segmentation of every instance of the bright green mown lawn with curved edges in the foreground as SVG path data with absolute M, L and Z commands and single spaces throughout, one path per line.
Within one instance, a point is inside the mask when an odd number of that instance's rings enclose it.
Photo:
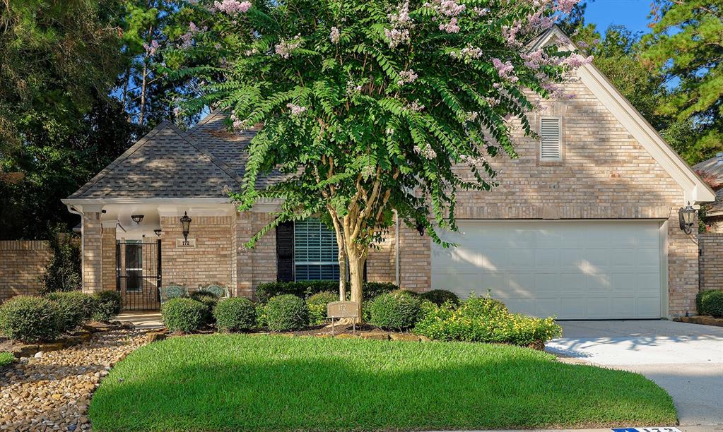
M 458 429 L 675 424 L 636 373 L 526 348 L 212 334 L 140 348 L 103 380 L 93 428 Z

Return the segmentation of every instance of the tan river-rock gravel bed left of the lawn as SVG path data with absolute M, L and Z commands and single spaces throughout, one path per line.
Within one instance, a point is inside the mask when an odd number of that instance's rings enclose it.
M 139 330 L 98 332 L 80 345 L 0 370 L 0 430 L 90 430 L 93 392 L 114 364 L 145 342 Z

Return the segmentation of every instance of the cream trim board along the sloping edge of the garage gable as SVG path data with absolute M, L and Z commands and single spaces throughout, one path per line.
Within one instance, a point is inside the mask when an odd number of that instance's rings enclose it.
M 532 49 L 547 45 L 549 41 L 557 37 L 561 41 L 569 40 L 565 33 L 562 33 L 557 26 L 552 27 L 541 38 Z M 578 48 L 572 43 L 567 43 L 565 48 L 569 51 L 576 51 Z M 589 87 L 591 92 L 599 98 L 600 102 L 612 113 L 620 124 L 625 126 L 630 135 L 638 141 L 643 148 L 666 170 L 685 193 L 684 202 L 687 204 L 701 204 L 715 200 L 715 192 L 685 163 L 680 155 L 669 146 L 651 124 L 636 110 L 633 105 L 620 94 L 620 91 L 612 85 L 612 82 L 600 72 L 594 64 L 585 64 L 578 69 L 578 76 L 584 85 Z

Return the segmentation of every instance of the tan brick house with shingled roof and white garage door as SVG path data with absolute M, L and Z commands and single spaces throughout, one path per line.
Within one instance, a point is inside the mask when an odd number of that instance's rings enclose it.
M 536 43 L 555 38 L 556 28 Z M 500 186 L 458 193 L 460 231 L 444 233 L 458 247 L 395 226 L 369 254 L 367 280 L 489 292 L 513 311 L 562 319 L 693 313 L 698 246 L 678 209 L 714 193 L 595 66 L 576 74 L 575 98 L 541 100 L 529 114 L 542 140 L 519 134 L 519 158 L 492 161 Z M 223 113 L 186 132 L 163 122 L 64 199 L 82 217 L 83 289 L 118 289 L 127 307 L 153 308 L 158 284 L 253 297 L 262 282 L 338 277 L 333 234 L 318 220 L 242 246 L 278 205 L 239 213 L 228 202 L 252 136 L 226 131 Z

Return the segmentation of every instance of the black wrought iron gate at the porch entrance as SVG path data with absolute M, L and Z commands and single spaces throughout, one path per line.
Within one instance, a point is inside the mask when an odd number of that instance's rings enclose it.
M 154 311 L 161 306 L 161 241 L 116 243 L 116 290 L 127 311 Z

